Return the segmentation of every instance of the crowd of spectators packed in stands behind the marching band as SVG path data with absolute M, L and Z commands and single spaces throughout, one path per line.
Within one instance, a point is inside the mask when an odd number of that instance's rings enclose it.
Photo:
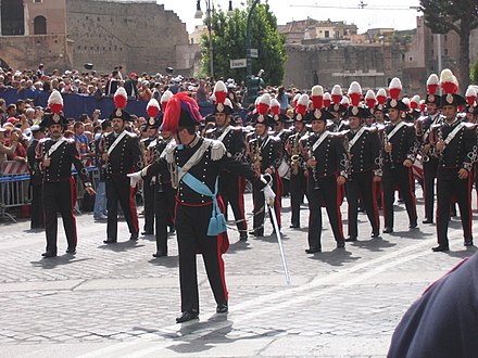
M 244 95 L 243 84 L 237 84 L 234 79 L 223 79 L 230 93 L 234 94 L 236 110 L 240 110 Z M 17 100 L 16 103 L 5 103 L 1 98 L 4 89 L 16 89 L 18 93 L 25 89 L 30 91 L 58 90 L 61 93 L 78 93 L 93 95 L 97 99 L 112 97 L 118 87 L 124 87 L 129 100 L 150 100 L 155 98 L 160 101 L 165 90 L 173 93 L 187 91 L 194 98 L 200 106 L 212 105 L 212 91 L 215 82 L 210 78 L 186 78 L 181 75 L 138 75 L 124 74 L 121 66 L 115 67 L 110 74 L 98 74 L 96 71 L 79 72 L 76 69 L 61 73 L 58 69 L 47 73 L 43 64 L 38 69 L 13 69 L 0 67 L 0 163 L 3 161 L 16 161 L 27 163 L 26 151 L 33 141 L 32 127 L 38 126 L 46 108 L 35 106 L 33 99 Z M 264 89 L 275 95 L 286 112 L 290 108 L 290 100 L 295 89 L 286 90 L 284 87 L 267 87 Z M 48 110 L 47 110 L 48 111 Z M 68 118 L 70 126 L 65 130 L 66 138 L 73 138 L 77 143 L 81 157 L 95 164 L 96 144 L 95 139 L 102 132 L 102 116 L 100 110 L 92 113 L 92 117 L 83 114 L 78 118 Z M 130 130 L 139 136 L 147 136 L 144 129 L 146 118 L 134 115 Z

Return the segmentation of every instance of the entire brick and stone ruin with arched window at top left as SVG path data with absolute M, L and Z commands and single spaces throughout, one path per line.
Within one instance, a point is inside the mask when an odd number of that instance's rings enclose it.
M 4 65 L 98 72 L 187 71 L 186 24 L 155 1 L 0 0 Z

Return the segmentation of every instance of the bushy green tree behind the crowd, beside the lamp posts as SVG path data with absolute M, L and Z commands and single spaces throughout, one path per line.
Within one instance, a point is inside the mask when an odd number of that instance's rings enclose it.
M 231 16 L 222 10 L 211 15 L 214 76 L 234 78 L 246 82 L 246 68 L 230 68 L 230 60 L 246 57 L 246 31 L 249 9 L 236 9 Z M 277 29 L 277 18 L 267 3 L 259 3 L 252 13 L 251 47 L 259 50 L 252 59 L 252 73 L 264 69 L 263 79 L 268 85 L 281 85 L 286 62 L 285 39 Z M 207 20 L 205 20 L 207 25 Z M 209 34 L 201 37 L 202 75 L 210 75 Z

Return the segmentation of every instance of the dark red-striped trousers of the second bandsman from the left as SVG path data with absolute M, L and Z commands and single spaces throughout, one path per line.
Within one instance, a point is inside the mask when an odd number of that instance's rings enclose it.
M 120 202 L 129 232 L 138 234 L 138 213 L 136 212 L 134 190 L 126 176 L 106 178 L 108 239 L 117 240 L 117 203 Z

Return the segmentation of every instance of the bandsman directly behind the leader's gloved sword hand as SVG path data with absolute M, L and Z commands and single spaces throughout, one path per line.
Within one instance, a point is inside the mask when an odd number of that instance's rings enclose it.
M 277 200 L 274 202 L 274 209 L 280 228 L 280 200 L 278 199 L 282 193 L 282 181 L 277 169 L 280 166 L 282 148 L 279 139 L 268 135 L 269 128 L 275 124 L 274 119 L 268 115 L 269 107 L 271 97 L 268 93 L 264 93 L 259 99 L 256 113 L 252 117 L 252 123 L 255 127 L 255 138 L 249 141 L 248 153 L 257 175 L 267 174 L 273 178 L 273 190 L 277 194 Z M 264 192 L 254 189 L 252 197 L 254 201 L 254 219 L 253 230 L 250 233 L 255 236 L 263 236 L 265 217 Z

